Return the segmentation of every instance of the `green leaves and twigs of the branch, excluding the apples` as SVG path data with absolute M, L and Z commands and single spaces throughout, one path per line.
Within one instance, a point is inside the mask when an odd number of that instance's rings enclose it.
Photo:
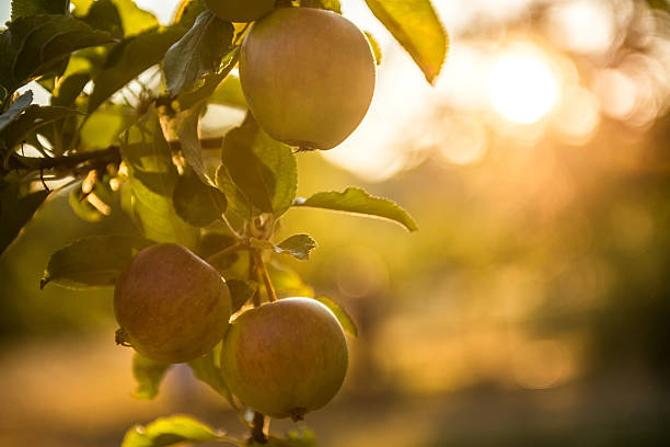
M 340 13 L 339 1 L 301 3 Z M 448 37 L 430 2 L 368 5 L 435 81 Z M 381 217 L 416 230 L 398 205 L 360 188 L 297 198 L 297 148 L 270 138 L 251 113 L 223 138 L 200 137 L 208 105 L 246 108 L 239 79 L 230 73 L 247 30 L 196 1 L 184 2 L 174 23 L 162 26 L 131 0 L 13 0 L 0 34 L 0 253 L 56 194 L 69 194 L 73 213 L 91 221 L 104 219 L 119 202 L 137 233 L 73 241 L 48 260 L 42 287 L 113 286 L 151 244 L 176 242 L 203 253 L 205 240 L 218 241 L 206 259 L 227 278 L 239 311 L 263 297 L 313 296 L 300 276 L 268 259 L 307 261 L 316 248 L 305 233 L 273 241 L 292 207 Z M 368 38 L 379 64 L 379 45 Z M 49 105 L 32 104 L 32 81 L 50 92 Z M 24 146 L 32 150 L 27 156 Z M 344 309 L 317 299 L 357 334 Z M 189 367 L 243 411 L 220 374 L 220 349 L 219 344 Z M 136 355 L 135 396 L 154 398 L 169 367 Z M 268 438 L 259 426 L 252 429 L 255 443 L 315 445 L 311 432 Z M 204 442 L 240 443 L 188 416 L 173 416 L 130 429 L 123 446 Z

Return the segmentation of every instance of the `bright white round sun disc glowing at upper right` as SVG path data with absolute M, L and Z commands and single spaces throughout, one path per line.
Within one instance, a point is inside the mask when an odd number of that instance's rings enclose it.
M 516 49 L 501 55 L 489 79 L 494 108 L 507 119 L 531 124 L 540 121 L 556 103 L 558 81 L 542 54 Z

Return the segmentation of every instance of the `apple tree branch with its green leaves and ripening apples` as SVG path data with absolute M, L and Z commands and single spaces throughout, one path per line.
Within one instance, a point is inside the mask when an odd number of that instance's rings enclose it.
M 448 36 L 430 1 L 366 2 L 434 82 Z M 363 118 L 379 45 L 338 0 L 186 0 L 169 25 L 131 0 L 11 7 L 0 34 L 0 252 L 57 194 L 91 221 L 120 203 L 137 233 L 74 240 L 45 260 L 41 287 L 114 287 L 135 396 L 154 398 L 171 365 L 186 363 L 250 431 L 235 439 L 181 415 L 131 428 L 123 446 L 314 445 L 310 432 L 268 435 L 269 417 L 324 406 L 346 375 L 345 332 L 357 331 L 281 264 L 307 261 L 316 241 L 275 232 L 294 207 L 417 229 L 358 187 L 296 196 L 296 158 L 337 150 Z M 37 84 L 48 105 L 34 103 Z M 203 138 L 213 104 L 246 115 Z

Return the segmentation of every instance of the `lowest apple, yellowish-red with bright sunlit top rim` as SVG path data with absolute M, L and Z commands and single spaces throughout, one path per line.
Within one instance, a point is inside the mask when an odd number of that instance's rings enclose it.
M 232 322 L 221 371 L 231 391 L 254 411 L 298 421 L 333 399 L 348 358 L 344 330 L 328 308 L 310 298 L 286 298 Z

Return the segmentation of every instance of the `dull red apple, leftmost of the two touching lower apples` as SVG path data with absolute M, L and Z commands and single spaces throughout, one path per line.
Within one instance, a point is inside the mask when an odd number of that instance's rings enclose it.
M 231 307 L 221 275 L 174 243 L 139 252 L 114 290 L 124 340 L 160 363 L 188 362 L 208 353 L 223 339 Z

